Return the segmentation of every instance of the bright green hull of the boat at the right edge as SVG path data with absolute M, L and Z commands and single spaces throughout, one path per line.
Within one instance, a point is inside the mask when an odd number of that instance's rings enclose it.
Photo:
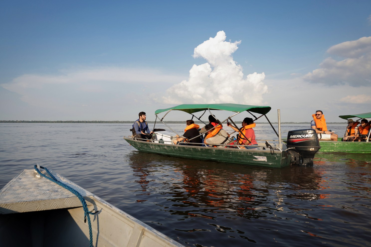
M 319 141 L 321 149 L 319 152 L 346 152 L 353 154 L 370 154 L 371 142 L 342 142 L 341 138 L 338 141 Z

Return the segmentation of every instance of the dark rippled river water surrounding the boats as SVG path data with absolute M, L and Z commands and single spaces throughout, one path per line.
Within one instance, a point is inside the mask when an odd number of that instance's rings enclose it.
M 371 246 L 370 154 L 252 167 L 138 152 L 122 139 L 130 128 L 0 123 L 0 188 L 39 163 L 185 246 Z M 303 128 L 282 125 L 282 135 Z M 277 139 L 268 124 L 255 133 Z

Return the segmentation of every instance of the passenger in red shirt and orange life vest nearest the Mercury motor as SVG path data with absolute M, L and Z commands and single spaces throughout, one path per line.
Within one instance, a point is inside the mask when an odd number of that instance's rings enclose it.
M 246 145 L 244 147 L 245 149 L 251 149 L 251 148 L 257 148 L 255 145 L 257 145 L 257 142 L 255 141 L 255 132 L 252 128 L 254 128 L 256 125 L 252 118 L 244 118 L 242 121 L 242 128 L 237 129 L 236 127 L 232 126 L 231 123 L 227 123 L 228 126 L 230 126 L 234 131 L 239 132 L 239 135 L 237 136 L 237 141 L 240 145 Z

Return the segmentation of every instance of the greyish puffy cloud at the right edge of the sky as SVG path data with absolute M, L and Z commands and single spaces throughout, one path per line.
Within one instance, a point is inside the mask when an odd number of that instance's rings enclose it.
M 371 37 L 347 41 L 327 50 L 344 60 L 326 58 L 319 69 L 309 72 L 303 79 L 312 83 L 327 85 L 368 86 L 371 82 Z

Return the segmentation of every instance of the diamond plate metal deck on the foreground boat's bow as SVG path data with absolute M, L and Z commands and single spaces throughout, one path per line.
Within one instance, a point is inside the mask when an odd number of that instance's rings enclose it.
M 59 181 L 74 188 L 83 197 L 93 195 L 66 178 L 49 170 Z M 46 174 L 43 171 L 43 174 Z M 23 170 L 0 191 L 0 214 L 42 211 L 57 208 L 81 207 L 72 192 L 43 177 L 34 169 Z M 87 205 L 91 205 L 86 201 Z

